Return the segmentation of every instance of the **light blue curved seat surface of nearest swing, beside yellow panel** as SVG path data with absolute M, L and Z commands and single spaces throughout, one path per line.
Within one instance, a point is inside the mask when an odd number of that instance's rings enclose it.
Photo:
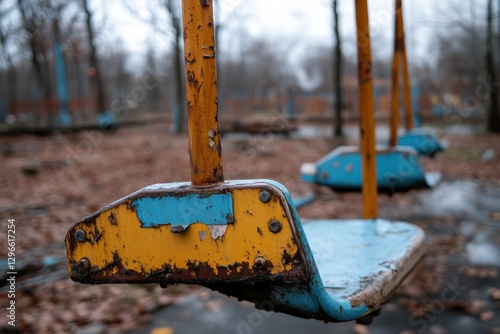
M 290 223 L 298 233 L 310 280 L 293 286 L 271 283 L 269 299 L 276 311 L 324 321 L 357 319 L 380 307 L 423 254 L 424 233 L 414 225 L 380 219 L 302 224 L 290 193 L 280 183 L 233 182 L 276 187 L 284 196 Z

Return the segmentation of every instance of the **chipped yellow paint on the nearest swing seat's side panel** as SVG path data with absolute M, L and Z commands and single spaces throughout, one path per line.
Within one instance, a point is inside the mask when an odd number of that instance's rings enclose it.
M 217 275 L 221 274 L 220 268 L 227 267 L 230 271 L 229 267 L 234 268 L 235 263 L 242 265 L 239 268 L 252 268 L 259 257 L 272 263 L 271 275 L 291 271 L 292 264 L 284 261 L 283 255 L 293 258 L 300 250 L 287 209 L 279 200 L 263 203 L 259 200 L 260 191 L 256 188 L 232 190 L 235 221 L 225 225 L 225 233 L 216 239 L 209 225 L 202 223 L 194 223 L 181 233 L 172 233 L 170 225 L 143 228 L 130 203 L 120 204 L 102 212 L 95 224 L 80 223 L 74 227 L 83 229 L 85 235 L 95 241 L 71 246 L 67 239 L 68 258 L 70 263 L 87 259 L 95 271 L 119 258 L 127 271 L 143 275 L 161 271 L 166 264 L 190 270 L 189 263 L 209 266 Z M 269 229 L 269 221 L 273 219 L 282 225 L 278 233 Z M 73 276 L 71 265 L 69 269 Z M 109 274 L 117 270 L 114 268 Z M 230 275 L 228 272 L 222 276 Z

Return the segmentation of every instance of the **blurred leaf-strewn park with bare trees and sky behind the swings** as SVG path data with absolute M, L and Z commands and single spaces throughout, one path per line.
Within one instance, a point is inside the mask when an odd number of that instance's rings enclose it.
M 361 194 L 300 178 L 302 163 L 359 143 L 354 4 L 214 0 L 225 178 L 315 193 L 305 218 L 362 216 Z M 18 273 L 16 327 L 2 311 L 0 332 L 500 333 L 500 5 L 403 8 L 415 120 L 449 147 L 421 158 L 442 174 L 436 187 L 379 196 L 379 216 L 422 227 L 428 248 L 365 326 L 192 286 L 72 282 L 71 224 L 142 187 L 189 180 L 181 1 L 0 0 L 2 310 L 9 219 Z M 387 143 L 394 1 L 369 10 L 376 135 Z

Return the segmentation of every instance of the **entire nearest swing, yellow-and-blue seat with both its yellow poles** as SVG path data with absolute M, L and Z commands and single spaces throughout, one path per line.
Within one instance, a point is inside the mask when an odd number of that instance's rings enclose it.
M 184 0 L 191 182 L 146 187 L 74 224 L 70 276 L 88 284 L 199 284 L 257 307 L 324 321 L 380 308 L 423 254 L 424 234 L 375 219 L 368 10 L 356 1 L 364 217 L 302 224 L 271 180 L 224 181 L 212 0 Z

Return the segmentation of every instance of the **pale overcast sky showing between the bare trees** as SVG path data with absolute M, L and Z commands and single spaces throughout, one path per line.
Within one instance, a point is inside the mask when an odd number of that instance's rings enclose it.
M 154 33 L 137 15 L 124 8 L 121 0 L 95 1 L 95 5 L 106 6 L 106 21 L 113 31 L 106 42 L 119 39 L 123 43 L 120 46 L 132 51 L 132 62 L 140 62 L 147 41 L 157 51 L 170 47 L 164 35 Z M 135 12 L 147 16 L 147 11 L 140 5 L 142 2 L 128 3 L 136 3 L 132 6 Z M 394 0 L 369 0 L 368 3 L 374 53 L 390 55 Z M 252 37 L 293 45 L 290 48 L 292 58 L 300 57 L 311 45 L 333 43 L 331 0 L 220 0 L 220 6 L 220 21 L 224 24 L 219 45 L 222 52 L 230 52 L 238 44 L 235 39 L 241 42 L 241 31 Z M 486 0 L 409 0 L 403 1 L 403 8 L 409 60 L 412 62 L 428 57 L 432 51 L 432 37 L 449 29 L 450 17 L 484 19 Z M 339 15 L 344 54 L 355 56 L 354 0 L 339 0 Z

